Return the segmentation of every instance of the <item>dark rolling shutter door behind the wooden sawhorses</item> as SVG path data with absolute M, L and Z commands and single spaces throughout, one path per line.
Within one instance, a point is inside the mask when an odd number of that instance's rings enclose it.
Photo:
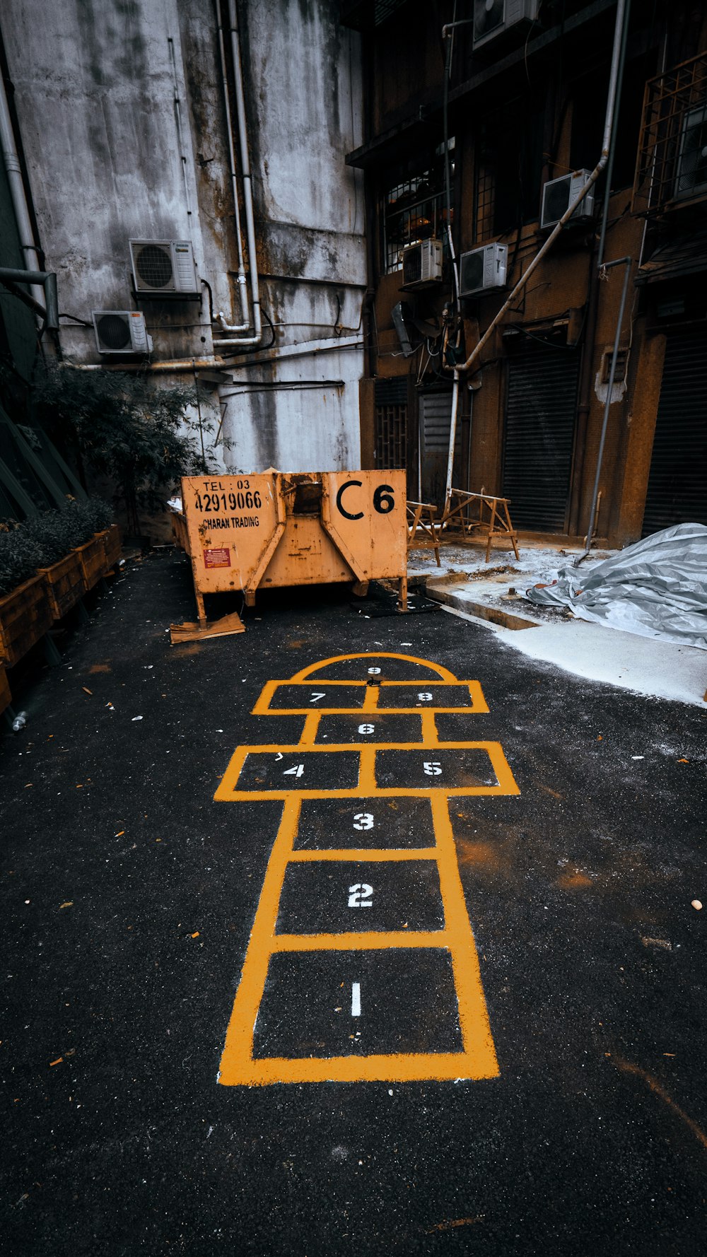
M 503 497 L 516 528 L 565 532 L 579 353 L 532 342 L 508 357 Z

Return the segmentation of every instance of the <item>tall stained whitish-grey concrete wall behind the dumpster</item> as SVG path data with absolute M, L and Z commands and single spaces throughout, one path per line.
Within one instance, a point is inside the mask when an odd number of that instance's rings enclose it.
M 201 396 L 219 416 L 223 393 L 228 466 L 356 466 L 362 358 L 340 342 L 360 338 L 366 284 L 361 176 L 343 161 L 361 140 L 359 36 L 340 29 L 333 0 L 239 0 L 268 348 L 262 362 L 235 358 L 237 346 L 213 344 L 228 336 L 213 326 L 219 310 L 242 322 L 216 13 L 215 0 L 5 0 L 40 244 L 73 317 L 62 349 L 121 365 L 98 354 L 91 312 L 140 308 L 152 363 L 226 358 L 225 388 L 210 371 Z M 239 197 L 243 211 L 242 182 Z M 131 238 L 191 240 L 200 299 L 136 299 Z M 282 349 L 297 361 L 281 365 Z M 293 381 L 317 388 L 291 391 Z

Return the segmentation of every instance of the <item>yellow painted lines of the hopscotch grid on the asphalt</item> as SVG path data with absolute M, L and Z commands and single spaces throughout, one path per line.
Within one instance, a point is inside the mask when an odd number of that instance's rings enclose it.
M 341 659 L 375 657 L 381 655 L 340 656 Z M 411 659 L 404 655 L 387 657 L 405 659 L 408 662 L 420 664 L 434 669 L 443 678 L 442 681 L 424 680 L 425 688 L 434 684 L 459 684 L 457 679 L 445 669 L 428 664 L 425 660 Z M 328 664 L 337 662 L 338 659 L 325 660 L 312 665 L 297 674 L 292 681 L 270 681 L 265 685 L 255 708 L 254 714 L 303 714 L 289 709 L 276 710 L 269 708 L 270 698 L 278 685 L 292 685 L 304 683 L 307 676 Z M 309 681 L 309 685 L 312 683 Z M 322 681 L 323 684 L 323 681 Z M 327 685 L 333 684 L 361 684 L 337 683 L 326 679 Z M 415 685 L 416 681 L 385 681 L 385 685 Z M 472 686 L 478 686 L 481 704 L 477 711 L 488 711 L 486 700 L 477 681 L 462 683 L 469 686 L 469 693 L 474 698 Z M 376 696 L 377 686 L 367 686 L 367 690 Z M 272 1082 L 325 1082 L 325 1081 L 423 1081 L 447 1079 L 491 1079 L 498 1075 L 498 1062 L 488 1023 L 488 1013 L 481 980 L 481 970 L 474 936 L 464 892 L 459 877 L 454 836 L 449 821 L 448 799 L 457 794 L 518 794 L 518 787 L 513 779 L 509 764 L 503 754 L 501 744 L 497 742 L 455 742 L 440 743 L 437 735 L 434 720 L 435 710 L 459 710 L 454 708 L 433 709 L 420 711 L 414 709 L 386 708 L 386 714 L 404 711 L 420 714 L 423 718 L 423 742 L 418 743 L 375 743 L 366 745 L 341 745 L 315 747 L 320 718 L 331 714 L 350 714 L 351 708 L 325 708 L 318 711 L 307 710 L 307 719 L 302 730 L 302 739 L 297 745 L 254 745 L 239 747 L 233 755 L 224 778 L 215 793 L 215 799 L 270 799 L 282 798 L 284 801 L 282 820 L 278 835 L 270 852 L 263 890 L 255 913 L 255 920 L 245 954 L 243 973 L 226 1031 L 226 1040 L 220 1063 L 219 1082 L 225 1086 L 238 1085 L 267 1085 Z M 356 709 L 359 711 L 362 708 Z M 369 710 L 376 710 L 370 708 Z M 473 714 L 472 709 L 460 709 Z M 283 755 L 292 752 L 313 750 L 317 753 L 356 752 L 360 755 L 359 784 L 355 789 L 287 789 L 281 791 L 238 791 L 237 783 L 242 772 L 245 757 L 249 753 L 277 753 Z M 453 787 L 438 788 L 428 786 L 424 788 L 398 788 L 379 789 L 375 779 L 375 755 L 377 750 L 433 750 L 433 749 L 483 749 L 487 752 L 498 786 L 482 787 Z M 294 840 L 299 823 L 302 799 L 308 798 L 359 798 L 359 797 L 391 798 L 400 796 L 429 797 L 431 806 L 433 828 L 435 845 L 420 848 L 330 848 L 330 850 L 294 850 Z M 276 924 L 279 910 L 279 900 L 287 866 L 302 862 L 318 861 L 409 861 L 409 860 L 435 860 L 439 874 L 439 886 L 444 908 L 444 929 L 442 930 L 385 930 L 385 931 L 352 931 L 340 934 L 276 934 Z M 400 1052 L 400 1053 L 374 1053 L 370 1056 L 333 1056 L 333 1057 L 268 1057 L 257 1060 L 253 1056 L 253 1033 L 258 1009 L 263 998 L 268 965 L 270 957 L 276 953 L 307 953 L 307 952 L 355 952 L 387 948 L 443 948 L 449 952 L 457 989 L 457 1003 L 459 1012 L 459 1027 L 462 1032 L 460 1052 Z

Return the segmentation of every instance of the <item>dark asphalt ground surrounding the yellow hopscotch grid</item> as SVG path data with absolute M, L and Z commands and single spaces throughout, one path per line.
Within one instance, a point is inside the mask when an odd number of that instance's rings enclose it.
M 133 566 L 0 739 L 3 1254 L 702 1257 L 704 713 L 443 611 L 303 591 L 170 647 L 192 615 L 185 561 Z M 376 649 L 481 680 L 491 713 L 440 735 L 499 740 L 521 787 L 452 808 L 499 1077 L 219 1086 L 282 804 L 214 791 L 237 745 L 299 737 L 250 714 L 267 680 Z M 401 879 L 434 925 L 434 879 Z M 289 886 L 287 913 L 317 894 Z M 286 968 L 265 1040 L 297 1051 Z M 418 973 L 449 1050 L 448 974 Z

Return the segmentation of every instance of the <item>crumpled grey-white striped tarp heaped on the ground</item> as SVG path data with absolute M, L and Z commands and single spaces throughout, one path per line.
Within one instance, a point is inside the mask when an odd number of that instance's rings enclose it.
M 707 650 L 707 527 L 674 524 L 586 571 L 564 567 L 526 591 L 540 606 L 580 620 Z

